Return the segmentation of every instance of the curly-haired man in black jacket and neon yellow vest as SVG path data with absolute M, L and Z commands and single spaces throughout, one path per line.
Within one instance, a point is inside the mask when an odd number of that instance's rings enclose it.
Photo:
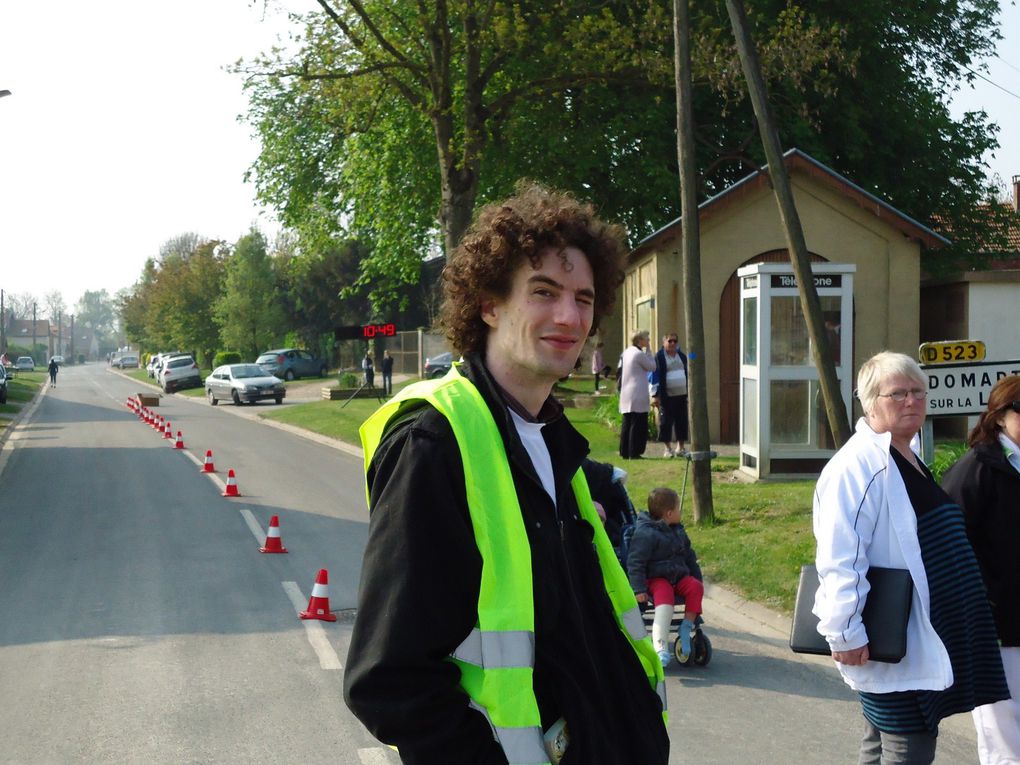
M 345 698 L 405 763 L 665 765 L 661 663 L 552 397 L 622 280 L 622 232 L 537 186 L 447 265 L 464 361 L 362 427 L 371 519 Z

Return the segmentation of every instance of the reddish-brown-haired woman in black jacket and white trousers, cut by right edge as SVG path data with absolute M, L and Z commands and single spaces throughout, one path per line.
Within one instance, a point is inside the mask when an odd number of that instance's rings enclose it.
M 991 389 L 968 443 L 942 487 L 963 508 L 1012 697 L 971 714 L 981 765 L 1020 763 L 1020 376 Z

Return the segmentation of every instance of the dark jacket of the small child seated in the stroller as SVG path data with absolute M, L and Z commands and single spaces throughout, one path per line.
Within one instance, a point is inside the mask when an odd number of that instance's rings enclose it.
M 661 577 L 675 584 L 684 576 L 702 578 L 698 556 L 683 524 L 669 525 L 664 520 L 653 520 L 648 513 L 638 513 L 627 552 L 630 586 L 635 593 L 647 593 L 649 579 Z

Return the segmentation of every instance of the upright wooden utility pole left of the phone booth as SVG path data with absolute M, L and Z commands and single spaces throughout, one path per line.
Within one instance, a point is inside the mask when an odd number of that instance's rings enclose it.
M 676 155 L 680 168 L 680 231 L 683 259 L 683 320 L 687 344 L 687 408 L 694 463 L 695 523 L 715 520 L 712 451 L 705 377 L 705 314 L 701 299 L 701 226 L 695 166 L 694 86 L 691 74 L 691 15 L 687 0 L 673 0 L 673 68 L 676 79 Z M 659 380 L 665 386 L 665 380 Z

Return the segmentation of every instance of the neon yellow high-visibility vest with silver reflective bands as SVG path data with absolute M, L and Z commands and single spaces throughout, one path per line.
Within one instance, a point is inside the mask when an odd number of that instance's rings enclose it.
M 361 426 L 365 469 L 387 423 L 408 401 L 426 401 L 453 428 L 464 464 L 467 505 L 481 555 L 478 621 L 450 660 L 460 685 L 493 727 L 511 765 L 549 763 L 534 698 L 534 591 L 531 548 L 503 439 L 478 390 L 454 365 L 441 379 L 408 386 Z M 570 481 L 581 516 L 595 529 L 595 547 L 617 623 L 633 647 L 649 682 L 662 700 L 662 664 L 645 629 L 638 602 L 595 510 L 581 470 Z

